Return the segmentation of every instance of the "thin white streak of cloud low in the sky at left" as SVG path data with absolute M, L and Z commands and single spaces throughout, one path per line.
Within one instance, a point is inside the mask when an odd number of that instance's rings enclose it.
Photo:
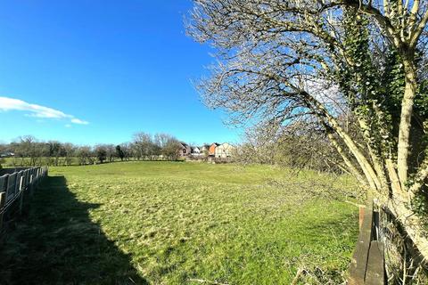
M 79 118 L 74 118 L 72 115 L 65 114 L 61 110 L 54 110 L 49 107 L 31 104 L 19 99 L 1 97 L 0 96 L 0 110 L 23 110 L 29 112 L 30 117 L 35 118 L 63 118 L 69 119 L 71 123 L 78 125 L 87 125 L 88 122 Z

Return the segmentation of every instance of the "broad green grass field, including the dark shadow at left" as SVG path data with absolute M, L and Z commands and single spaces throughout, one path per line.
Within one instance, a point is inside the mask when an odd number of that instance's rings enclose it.
M 347 177 L 128 162 L 51 167 L 0 255 L 0 283 L 340 283 L 357 241 Z

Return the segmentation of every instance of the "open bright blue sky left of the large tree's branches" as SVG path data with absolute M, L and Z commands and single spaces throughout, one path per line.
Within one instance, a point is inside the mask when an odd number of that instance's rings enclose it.
M 0 4 L 0 141 L 78 144 L 138 131 L 236 142 L 191 80 L 214 62 L 185 35 L 190 0 L 27 0 Z

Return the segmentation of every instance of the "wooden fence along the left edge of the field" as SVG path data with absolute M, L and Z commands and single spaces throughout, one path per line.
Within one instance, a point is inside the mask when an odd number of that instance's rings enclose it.
M 10 172 L 5 169 L 5 172 Z M 47 167 L 15 168 L 14 172 L 0 176 L 0 232 L 14 209 L 21 215 L 24 196 L 31 196 L 37 185 L 47 176 Z

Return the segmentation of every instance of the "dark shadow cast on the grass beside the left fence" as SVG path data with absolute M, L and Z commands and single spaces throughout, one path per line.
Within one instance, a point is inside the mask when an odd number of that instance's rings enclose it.
M 0 284 L 148 284 L 92 222 L 63 176 L 47 177 L 0 249 Z

